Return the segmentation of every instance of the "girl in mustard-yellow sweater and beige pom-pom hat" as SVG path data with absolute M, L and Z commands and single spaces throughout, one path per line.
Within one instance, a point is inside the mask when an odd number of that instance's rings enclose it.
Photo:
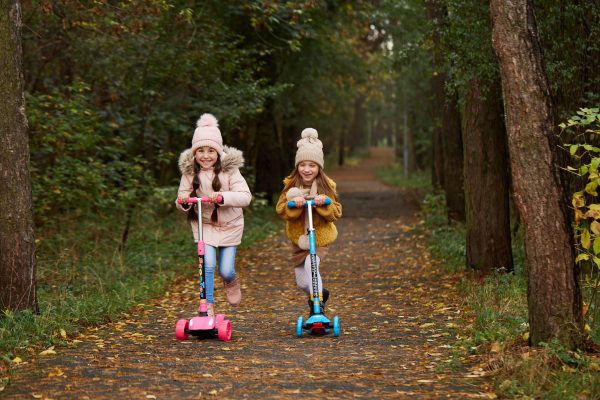
M 312 285 L 310 273 L 309 244 L 307 236 L 308 222 L 304 203 L 307 198 L 314 198 L 316 213 L 313 213 L 313 226 L 317 241 L 317 265 L 327 253 L 327 245 L 337 238 L 337 229 L 333 224 L 342 216 L 342 205 L 335 190 L 335 182 L 323 171 L 323 144 L 317 131 L 306 128 L 302 131 L 302 139 L 298 141 L 296 167 L 283 180 L 283 191 L 277 202 L 277 214 L 286 221 L 285 231 L 292 242 L 292 265 L 296 273 L 296 283 L 300 289 L 308 293 L 311 315 Z M 331 203 L 324 205 L 325 199 Z M 288 201 L 296 202 L 295 208 L 288 208 Z M 319 288 L 323 288 L 319 274 Z M 329 291 L 323 289 L 322 307 L 329 298 Z

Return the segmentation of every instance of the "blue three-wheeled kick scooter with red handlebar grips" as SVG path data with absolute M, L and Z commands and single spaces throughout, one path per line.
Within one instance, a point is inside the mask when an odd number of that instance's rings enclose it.
M 325 205 L 331 204 L 331 199 L 325 199 Z M 319 288 L 319 266 L 317 264 L 317 241 L 315 239 L 315 229 L 313 227 L 312 208 L 316 207 L 314 199 L 308 199 L 305 202 L 306 212 L 308 213 L 308 242 L 310 257 L 310 272 L 312 276 L 312 293 L 313 293 L 313 313 L 306 322 L 302 316 L 298 317 L 296 322 L 296 336 L 301 337 L 302 332 L 306 331 L 312 335 L 326 335 L 333 330 L 333 336 L 340 335 L 340 320 L 336 315 L 333 317 L 333 322 L 329 320 L 321 309 L 321 299 L 323 294 Z M 295 208 L 296 202 L 289 201 L 289 208 Z

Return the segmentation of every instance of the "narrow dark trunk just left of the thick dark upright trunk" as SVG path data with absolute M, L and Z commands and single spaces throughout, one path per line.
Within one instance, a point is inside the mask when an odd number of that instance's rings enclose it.
M 456 221 L 464 221 L 465 189 L 463 178 L 463 145 L 457 93 L 454 93 L 446 99 L 443 110 L 443 174 L 448 218 Z

